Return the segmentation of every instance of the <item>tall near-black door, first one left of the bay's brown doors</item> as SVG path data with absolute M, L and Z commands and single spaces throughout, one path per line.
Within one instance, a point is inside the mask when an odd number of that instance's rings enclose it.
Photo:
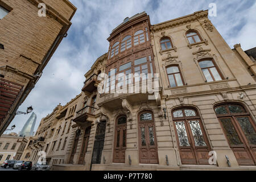
M 106 121 L 98 123 L 95 140 L 94 140 L 94 146 L 93 146 L 91 167 L 92 167 L 92 164 L 101 163 L 101 153 L 104 148 L 105 132 L 106 132 Z

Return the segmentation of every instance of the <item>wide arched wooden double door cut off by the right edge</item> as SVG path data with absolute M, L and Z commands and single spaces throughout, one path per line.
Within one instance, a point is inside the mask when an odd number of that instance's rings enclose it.
M 218 120 L 240 165 L 256 164 L 256 125 L 240 104 L 226 103 L 214 107 Z

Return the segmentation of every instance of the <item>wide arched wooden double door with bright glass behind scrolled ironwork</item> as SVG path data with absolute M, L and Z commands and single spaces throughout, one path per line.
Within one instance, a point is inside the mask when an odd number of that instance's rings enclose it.
M 197 110 L 191 107 L 175 109 L 172 111 L 172 118 L 176 128 L 181 162 L 183 164 L 209 164 L 210 147 Z

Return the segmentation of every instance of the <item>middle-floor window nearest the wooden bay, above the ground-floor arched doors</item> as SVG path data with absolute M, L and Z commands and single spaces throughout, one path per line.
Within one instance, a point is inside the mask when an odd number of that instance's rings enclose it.
M 180 74 L 180 69 L 178 66 L 175 65 L 172 67 L 168 67 L 166 68 L 166 71 L 167 71 L 169 84 L 171 87 L 184 85 L 183 79 Z

